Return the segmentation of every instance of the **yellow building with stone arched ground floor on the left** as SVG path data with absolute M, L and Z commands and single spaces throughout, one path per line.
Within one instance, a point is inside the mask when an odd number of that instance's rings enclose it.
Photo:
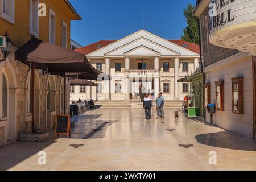
M 38 4 L 46 16 L 38 16 Z M 0 146 L 15 142 L 20 133 L 31 133 L 31 69 L 15 60 L 15 51 L 31 39 L 40 39 L 69 49 L 71 20 L 81 20 L 67 0 L 0 0 L 0 35 L 7 31 L 13 42 L 0 63 Z M 0 60 L 4 55 L 0 53 Z M 56 114 L 68 112 L 69 92 L 64 103 L 64 78 L 35 69 L 35 128 L 52 129 Z M 64 107 L 66 105 L 66 107 Z

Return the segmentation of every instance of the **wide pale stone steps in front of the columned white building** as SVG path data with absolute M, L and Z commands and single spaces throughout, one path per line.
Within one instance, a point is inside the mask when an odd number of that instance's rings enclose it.
M 123 100 L 123 101 L 98 101 L 97 106 L 102 109 L 142 109 L 143 103 L 140 100 Z M 153 102 L 153 108 L 156 108 L 155 101 Z M 182 101 L 164 101 L 164 108 L 167 109 L 182 109 Z

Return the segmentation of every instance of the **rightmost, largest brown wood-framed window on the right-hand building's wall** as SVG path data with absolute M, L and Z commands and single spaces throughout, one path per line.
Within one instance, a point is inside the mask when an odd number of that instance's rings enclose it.
M 233 113 L 243 114 L 243 77 L 232 78 Z

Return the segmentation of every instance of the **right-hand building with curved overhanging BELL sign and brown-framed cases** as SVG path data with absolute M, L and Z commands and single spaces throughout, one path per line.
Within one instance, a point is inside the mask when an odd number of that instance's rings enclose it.
M 197 1 L 204 71 L 204 100 L 216 104 L 214 125 L 255 139 L 256 1 Z M 212 7 L 213 8 L 213 7 Z M 206 112 L 210 123 L 210 114 Z

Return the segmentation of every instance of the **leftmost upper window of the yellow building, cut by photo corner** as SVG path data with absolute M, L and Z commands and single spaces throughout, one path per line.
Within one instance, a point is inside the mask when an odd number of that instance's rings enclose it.
M 15 0 L 2 0 L 0 2 L 0 16 L 8 22 L 14 24 Z

